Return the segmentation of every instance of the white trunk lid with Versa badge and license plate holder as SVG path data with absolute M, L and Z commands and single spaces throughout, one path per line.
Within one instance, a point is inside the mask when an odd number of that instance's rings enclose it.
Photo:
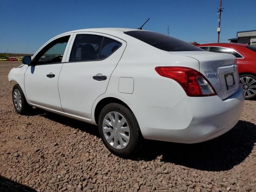
M 207 51 L 170 52 L 198 60 L 200 72 L 212 84 L 218 96 L 223 100 L 235 94 L 239 87 L 238 66 L 232 54 Z

